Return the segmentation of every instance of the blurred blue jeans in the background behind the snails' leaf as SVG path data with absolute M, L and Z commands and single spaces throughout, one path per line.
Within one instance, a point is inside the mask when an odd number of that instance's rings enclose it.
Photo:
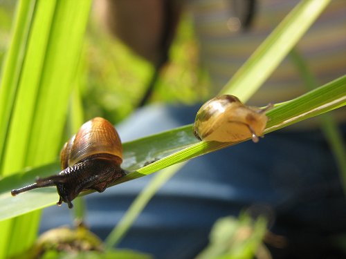
M 147 106 L 117 129 L 123 142 L 134 140 L 190 124 L 198 108 Z M 87 195 L 91 231 L 105 238 L 151 178 Z M 257 144 L 248 141 L 190 160 L 156 193 L 119 247 L 160 259 L 193 258 L 208 244 L 215 220 L 249 208 L 266 214 L 271 231 L 289 239 L 278 258 L 293 258 L 292 251 L 318 258 L 325 237 L 346 231 L 345 196 L 320 131 L 276 131 Z M 46 209 L 41 230 L 69 224 L 67 211 Z

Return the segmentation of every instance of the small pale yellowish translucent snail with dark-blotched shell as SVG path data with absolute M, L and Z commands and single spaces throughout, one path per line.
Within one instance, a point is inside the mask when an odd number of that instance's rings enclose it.
M 252 137 L 258 142 L 268 117 L 266 108 L 246 106 L 233 95 L 220 95 L 203 104 L 194 121 L 194 135 L 199 140 L 237 142 Z

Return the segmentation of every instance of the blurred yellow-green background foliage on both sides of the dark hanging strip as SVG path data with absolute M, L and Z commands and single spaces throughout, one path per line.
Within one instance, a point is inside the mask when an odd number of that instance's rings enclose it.
M 208 77 L 199 66 L 192 21 L 183 15 L 170 49 L 170 62 L 161 70 L 152 102 L 201 101 L 208 94 Z M 119 122 L 133 111 L 154 74 L 154 67 L 102 29 L 91 15 L 84 58 L 88 71 L 82 99 L 86 119 L 103 116 Z M 199 95 L 196 95 L 198 87 Z

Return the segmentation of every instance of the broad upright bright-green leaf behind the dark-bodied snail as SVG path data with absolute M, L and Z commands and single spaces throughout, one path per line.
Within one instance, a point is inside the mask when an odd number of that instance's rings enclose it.
M 8 93 L 11 99 L 1 104 L 0 117 L 7 119 L 1 132 L 2 175 L 56 159 L 90 6 L 82 0 L 20 2 L 19 16 L 31 22 L 19 17 L 19 36 L 11 46 L 19 46 L 21 55 L 10 51 L 4 66 L 0 99 Z M 39 215 L 1 222 L 0 258 L 33 243 Z

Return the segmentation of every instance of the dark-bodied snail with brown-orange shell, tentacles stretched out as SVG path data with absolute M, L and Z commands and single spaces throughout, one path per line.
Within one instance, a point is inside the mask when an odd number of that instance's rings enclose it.
M 84 123 L 77 134 L 64 144 L 60 153 L 62 171 L 48 178 L 11 191 L 13 196 L 36 188 L 56 186 L 60 195 L 57 205 L 66 202 L 71 209 L 72 200 L 81 191 L 102 192 L 111 182 L 126 172 L 122 163 L 122 144 L 113 125 L 101 117 Z

